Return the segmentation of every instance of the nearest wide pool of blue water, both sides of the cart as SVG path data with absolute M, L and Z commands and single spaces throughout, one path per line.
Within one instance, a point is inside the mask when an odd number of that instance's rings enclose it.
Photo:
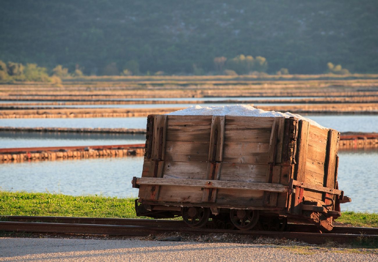
M 352 198 L 342 211 L 378 212 L 378 152 L 344 151 L 339 157 L 339 188 Z M 135 197 L 130 181 L 141 176 L 142 165 L 143 157 L 1 164 L 0 190 Z

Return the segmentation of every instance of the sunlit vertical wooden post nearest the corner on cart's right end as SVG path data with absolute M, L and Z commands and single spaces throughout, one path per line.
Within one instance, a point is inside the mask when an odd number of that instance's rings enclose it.
M 296 154 L 296 173 L 295 178 L 298 181 L 304 181 L 306 163 L 307 163 L 307 147 L 308 147 L 308 132 L 309 124 L 307 121 L 299 121 L 298 141 L 297 141 L 297 154 Z

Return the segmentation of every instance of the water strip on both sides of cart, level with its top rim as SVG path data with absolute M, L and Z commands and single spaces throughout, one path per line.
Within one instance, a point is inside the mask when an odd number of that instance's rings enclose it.
M 378 132 L 378 115 L 308 115 L 306 117 L 340 132 Z M 146 121 L 146 117 L 0 119 L 0 126 L 146 128 Z

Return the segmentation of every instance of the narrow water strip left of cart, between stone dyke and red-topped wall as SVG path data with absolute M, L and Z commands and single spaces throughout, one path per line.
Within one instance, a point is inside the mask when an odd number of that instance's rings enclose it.
M 20 133 L 0 131 L 0 148 L 145 143 L 144 134 Z

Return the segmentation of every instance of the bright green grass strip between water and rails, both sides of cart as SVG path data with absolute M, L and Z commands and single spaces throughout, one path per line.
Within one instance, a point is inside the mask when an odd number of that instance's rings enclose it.
M 0 191 L 0 215 L 136 218 L 135 198 Z M 347 211 L 338 224 L 378 227 L 378 214 Z

